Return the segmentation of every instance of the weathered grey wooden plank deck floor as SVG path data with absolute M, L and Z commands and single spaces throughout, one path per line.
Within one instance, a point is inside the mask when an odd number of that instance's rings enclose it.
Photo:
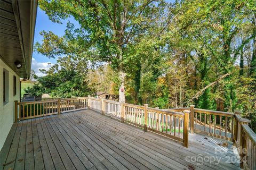
M 204 138 L 189 135 L 185 148 L 95 111 L 75 111 L 13 124 L 0 169 L 239 169 L 239 163 L 228 162 L 239 158 L 236 148 Z

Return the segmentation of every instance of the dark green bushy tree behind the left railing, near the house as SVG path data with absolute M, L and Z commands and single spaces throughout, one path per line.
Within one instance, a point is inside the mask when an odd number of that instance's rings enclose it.
M 95 90 L 89 86 L 86 65 L 87 62 L 80 58 L 59 58 L 57 64 L 52 65 L 49 71 L 42 70 L 45 76 L 35 76 L 37 83 L 26 89 L 26 92 L 35 96 L 49 94 L 62 98 L 92 95 Z

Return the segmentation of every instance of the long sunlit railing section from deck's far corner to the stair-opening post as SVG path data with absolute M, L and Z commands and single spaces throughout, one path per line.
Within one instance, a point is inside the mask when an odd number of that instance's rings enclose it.
M 147 104 L 139 106 L 93 97 L 88 98 L 88 106 L 119 121 L 143 128 L 145 132 L 150 130 L 181 141 L 188 147 L 188 110 L 164 111 L 148 107 Z

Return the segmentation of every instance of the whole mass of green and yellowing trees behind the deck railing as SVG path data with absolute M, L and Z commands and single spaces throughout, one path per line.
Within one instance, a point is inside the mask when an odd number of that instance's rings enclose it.
M 252 0 L 40 0 L 65 35 L 42 31 L 35 49 L 61 57 L 28 92 L 106 91 L 126 102 L 234 112 L 256 131 L 256 7 Z

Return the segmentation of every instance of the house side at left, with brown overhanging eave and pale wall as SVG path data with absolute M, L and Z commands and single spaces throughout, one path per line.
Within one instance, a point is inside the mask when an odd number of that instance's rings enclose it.
M 14 122 L 20 79 L 29 79 L 37 1 L 0 4 L 0 149 Z

